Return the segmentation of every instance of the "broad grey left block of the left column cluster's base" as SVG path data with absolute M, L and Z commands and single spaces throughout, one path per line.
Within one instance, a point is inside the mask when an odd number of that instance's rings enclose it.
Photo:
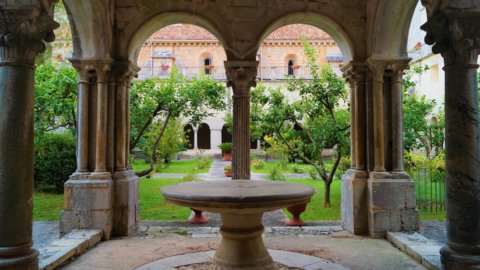
M 65 183 L 64 206 L 60 214 L 60 235 L 75 229 L 99 229 L 103 239 L 112 234 L 112 180 L 78 179 L 72 175 Z

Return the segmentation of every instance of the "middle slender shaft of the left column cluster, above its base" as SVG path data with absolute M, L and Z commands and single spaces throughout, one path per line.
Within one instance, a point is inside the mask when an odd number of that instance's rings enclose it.
M 107 173 L 108 70 L 109 63 L 99 63 L 97 72 L 97 133 L 95 143 L 95 175 Z

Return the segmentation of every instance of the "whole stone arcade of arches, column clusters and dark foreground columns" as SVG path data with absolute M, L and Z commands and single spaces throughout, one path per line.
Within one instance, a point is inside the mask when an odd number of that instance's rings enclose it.
M 32 249 L 35 58 L 55 39 L 56 1 L 0 2 L 0 269 L 37 269 Z M 328 32 L 351 85 L 352 167 L 343 177 L 342 223 L 383 238 L 419 226 L 414 183 L 403 168 L 402 90 L 414 0 L 64 0 L 78 80 L 78 169 L 65 184 L 60 229 L 96 228 L 103 238 L 138 226 L 138 178 L 128 164 L 129 82 L 143 42 L 189 23 L 223 44 L 233 89 L 233 179 L 250 179 L 250 88 L 256 53 L 280 26 Z M 480 119 L 476 70 L 480 0 L 423 0 L 425 41 L 446 72 L 447 243 L 445 269 L 480 265 Z

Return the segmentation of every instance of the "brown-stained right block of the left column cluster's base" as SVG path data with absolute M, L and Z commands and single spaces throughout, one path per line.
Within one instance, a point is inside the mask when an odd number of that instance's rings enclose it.
M 113 174 L 113 229 L 117 236 L 131 236 L 140 219 L 138 177 L 131 170 Z

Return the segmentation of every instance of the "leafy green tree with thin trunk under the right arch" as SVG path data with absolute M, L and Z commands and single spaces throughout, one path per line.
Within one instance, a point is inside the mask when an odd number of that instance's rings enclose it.
M 349 111 L 340 106 L 347 98 L 346 83 L 331 66 L 320 69 L 316 52 L 307 41 L 304 52 L 312 80 L 288 80 L 287 89 L 300 94 L 293 102 L 282 91 L 270 90 L 269 109 L 262 116 L 262 125 L 265 130 L 274 131 L 291 155 L 315 168 L 325 186 L 324 206 L 330 207 L 330 186 L 342 155 L 350 149 Z M 294 126 L 300 129 L 295 130 Z M 322 153 L 331 148 L 336 148 L 336 156 L 329 166 Z

